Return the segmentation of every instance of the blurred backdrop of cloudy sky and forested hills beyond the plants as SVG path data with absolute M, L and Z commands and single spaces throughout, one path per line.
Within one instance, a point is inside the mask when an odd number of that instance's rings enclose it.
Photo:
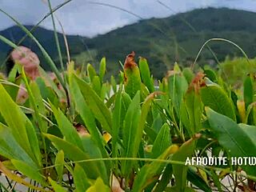
M 63 27 L 62 30 L 57 26 L 63 61 L 67 59 L 62 31 L 76 66 L 90 62 L 97 69 L 99 60 L 106 57 L 109 77 L 118 74 L 122 67 L 119 62 L 124 62 L 126 54 L 134 50 L 137 56 L 148 59 L 154 77 L 162 78 L 174 62 L 184 67 L 193 64 L 203 43 L 210 38 L 229 39 L 241 46 L 249 58 L 255 57 L 253 0 L 54 0 L 52 6 L 65 2 L 55 12 Z M 29 30 L 49 12 L 47 1 L 42 0 L 0 0 L 0 8 Z M 4 14 L 0 14 L 0 23 L 0 34 L 16 44 L 25 35 Z M 46 18 L 33 34 L 59 65 L 51 18 Z M 35 51 L 43 68 L 50 70 L 30 38 L 21 45 Z M 10 46 L 0 42 L 2 70 L 9 51 Z M 200 54 L 198 64 L 216 68 L 241 56 L 241 51 L 227 42 L 210 42 Z

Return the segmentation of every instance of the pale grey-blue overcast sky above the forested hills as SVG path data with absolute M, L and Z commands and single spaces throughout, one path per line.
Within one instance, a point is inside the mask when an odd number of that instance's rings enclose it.
M 47 0 L 0 0 L 0 8 L 14 18 L 18 18 L 22 24 L 35 24 L 48 12 L 46 2 Z M 51 2 L 53 6 L 57 6 L 65 0 L 51 0 Z M 162 18 L 174 14 L 157 0 L 91 0 L 91 2 L 122 7 L 141 18 Z M 161 2 L 175 12 L 207 6 L 227 6 L 256 12 L 256 0 L 161 0 Z M 73 0 L 56 14 L 66 34 L 81 34 L 89 37 L 138 21 L 137 17 L 122 10 L 90 4 L 86 0 Z M 0 13 L 0 30 L 13 25 L 14 22 Z M 52 29 L 51 20 L 47 19 L 42 26 Z

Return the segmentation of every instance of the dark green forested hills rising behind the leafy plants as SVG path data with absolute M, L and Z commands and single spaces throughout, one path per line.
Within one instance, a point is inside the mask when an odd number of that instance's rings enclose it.
M 97 65 L 102 56 L 108 60 L 108 71 L 118 71 L 126 54 L 134 50 L 138 56 L 150 61 L 154 76 L 161 77 L 175 61 L 190 65 L 198 54 L 198 50 L 209 38 L 227 38 L 246 51 L 250 58 L 256 54 L 256 14 L 245 10 L 230 10 L 227 8 L 206 8 L 175 14 L 169 18 L 150 18 L 129 26 L 112 30 L 95 38 L 68 36 L 70 52 L 78 64 L 93 62 Z M 31 26 L 29 26 L 31 27 Z M 0 32 L 7 38 L 18 42 L 22 32 L 17 26 Z M 57 57 L 53 32 L 38 28 L 34 33 L 50 52 Z M 60 38 L 61 37 L 61 34 Z M 38 51 L 33 42 L 26 41 Z M 226 55 L 240 56 L 237 48 L 226 42 L 211 42 L 210 48 L 222 61 Z M 64 45 L 62 43 L 62 49 Z M 0 42 L 0 54 L 6 54 L 8 46 Z M 64 49 L 63 49 L 64 50 Z M 0 55 L 1 57 L 1 55 Z M 209 50 L 204 50 L 200 62 L 214 63 L 214 57 Z

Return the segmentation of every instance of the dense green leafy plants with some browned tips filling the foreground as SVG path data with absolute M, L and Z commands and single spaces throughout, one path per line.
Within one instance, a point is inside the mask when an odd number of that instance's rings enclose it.
M 255 62 L 245 53 L 220 70 L 176 63 L 156 86 L 146 58 L 132 52 L 108 81 L 106 58 L 97 68 L 70 61 L 58 70 L 12 19 L 54 75 L 29 49 L 0 35 L 17 56 L 0 79 L 0 170 L 8 182 L 1 190 L 15 191 L 17 183 L 28 191 L 256 190 Z

